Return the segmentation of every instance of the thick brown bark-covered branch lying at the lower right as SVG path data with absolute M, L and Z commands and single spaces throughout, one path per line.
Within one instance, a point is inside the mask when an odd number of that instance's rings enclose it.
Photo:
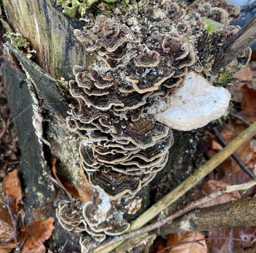
M 256 225 L 256 199 L 254 197 L 219 204 L 185 214 L 155 230 L 160 235 L 181 231 L 207 231 L 217 228 Z

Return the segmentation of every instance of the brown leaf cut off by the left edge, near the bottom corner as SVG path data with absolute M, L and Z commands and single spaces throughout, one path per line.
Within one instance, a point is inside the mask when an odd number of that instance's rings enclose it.
M 10 214 L 3 204 L 0 204 L 0 242 L 1 244 L 8 244 L 13 238 Z

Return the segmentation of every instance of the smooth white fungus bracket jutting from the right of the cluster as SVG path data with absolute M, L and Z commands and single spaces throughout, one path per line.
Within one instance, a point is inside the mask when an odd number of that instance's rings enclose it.
M 230 99 L 228 90 L 214 87 L 202 76 L 189 72 L 182 87 L 170 97 L 169 108 L 156 119 L 170 128 L 190 131 L 223 116 Z

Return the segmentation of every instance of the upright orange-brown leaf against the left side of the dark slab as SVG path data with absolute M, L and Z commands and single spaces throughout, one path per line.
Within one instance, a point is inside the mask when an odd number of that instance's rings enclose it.
M 10 196 L 13 202 L 13 211 L 17 212 L 22 204 L 22 188 L 20 187 L 18 170 L 13 170 L 4 177 L 3 190 L 6 195 Z

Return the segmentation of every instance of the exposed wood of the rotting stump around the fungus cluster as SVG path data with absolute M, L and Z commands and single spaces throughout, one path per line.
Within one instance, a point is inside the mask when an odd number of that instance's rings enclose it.
M 25 192 L 26 225 L 33 219 L 54 216 L 56 200 L 65 199 L 51 180 L 52 156 L 58 158 L 58 165 L 68 178 L 77 180 L 77 173 L 73 174 L 73 171 L 79 167 L 79 143 L 77 136 L 65 127 L 68 102 L 57 79 L 72 78 L 74 65 L 94 60 L 84 53 L 82 44 L 75 42 L 73 30 L 79 28 L 80 23 L 61 13 L 52 2 L 2 1 L 4 18 L 14 32 L 19 31 L 37 51 L 34 62 L 14 44 L 6 42 L 1 59 L 1 73 L 22 153 L 19 171 Z M 136 215 L 127 215 L 130 220 L 193 171 L 195 149 L 189 144 L 191 135 L 176 135 L 167 165 L 161 175 L 139 192 L 138 197 L 143 199 L 142 207 Z M 75 186 L 79 183 L 74 182 Z M 79 251 L 78 235 L 70 235 L 57 221 L 54 226 L 51 242 L 56 249 L 60 250 L 67 241 L 65 252 Z

